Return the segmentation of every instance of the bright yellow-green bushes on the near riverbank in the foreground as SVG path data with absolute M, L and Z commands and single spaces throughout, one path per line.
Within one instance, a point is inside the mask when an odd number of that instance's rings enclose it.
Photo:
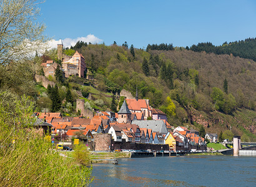
M 0 186 L 89 185 L 91 168 L 52 150 L 51 138 L 32 125 L 34 105 L 26 97 L 15 103 L 10 111 L 0 101 Z

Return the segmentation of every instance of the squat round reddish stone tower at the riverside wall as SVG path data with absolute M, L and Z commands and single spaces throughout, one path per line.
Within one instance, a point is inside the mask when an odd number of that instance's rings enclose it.
M 94 134 L 94 141 L 96 151 L 110 151 L 111 134 Z

